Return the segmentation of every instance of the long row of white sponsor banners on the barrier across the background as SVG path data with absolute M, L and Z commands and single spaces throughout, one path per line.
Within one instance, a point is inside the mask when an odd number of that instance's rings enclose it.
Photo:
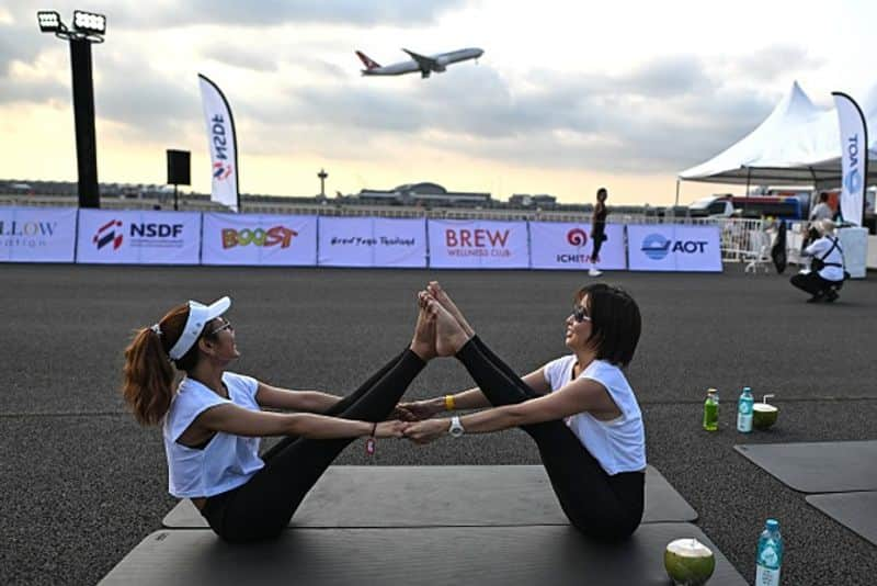
M 772 227 L 761 219 L 662 224 L 652 216 L 613 216 L 596 267 L 642 270 L 651 264 L 643 264 L 642 243 L 634 240 L 643 229 L 675 243 L 681 228 L 698 226 L 711 226 L 718 241 L 703 245 L 709 249 L 704 255 L 719 251 L 707 263 L 710 271 L 751 256 Z M 0 207 L 0 262 L 581 270 L 590 268 L 590 228 L 588 222 L 526 219 Z M 788 239 L 793 262 L 800 247 L 796 235 L 790 230 Z M 693 252 L 676 252 L 672 262 L 646 270 L 695 270 L 697 264 L 683 262 L 694 257 L 680 256 Z

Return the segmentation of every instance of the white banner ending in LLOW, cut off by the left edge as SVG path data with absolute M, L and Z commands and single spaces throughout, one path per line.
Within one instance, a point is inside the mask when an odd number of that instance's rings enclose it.
M 0 207 L 0 262 L 72 262 L 76 207 Z

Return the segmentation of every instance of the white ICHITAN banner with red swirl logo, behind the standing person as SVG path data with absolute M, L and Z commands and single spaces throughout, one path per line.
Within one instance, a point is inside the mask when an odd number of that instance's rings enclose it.
M 606 224 L 605 236 L 595 266 L 607 270 L 626 269 L 624 225 Z M 590 224 L 529 223 L 529 257 L 534 269 L 588 270 L 593 246 Z

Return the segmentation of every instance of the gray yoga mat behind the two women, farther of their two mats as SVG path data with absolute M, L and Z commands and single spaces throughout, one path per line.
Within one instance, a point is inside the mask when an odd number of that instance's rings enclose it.
M 660 472 L 646 472 L 643 522 L 694 521 L 697 512 Z M 163 519 L 207 528 L 190 500 Z M 481 527 L 568 525 L 543 466 L 331 466 L 291 527 Z

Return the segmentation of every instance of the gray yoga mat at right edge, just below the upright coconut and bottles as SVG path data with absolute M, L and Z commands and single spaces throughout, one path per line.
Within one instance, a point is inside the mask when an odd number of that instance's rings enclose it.
M 734 450 L 801 493 L 877 491 L 877 441 L 750 443 Z

